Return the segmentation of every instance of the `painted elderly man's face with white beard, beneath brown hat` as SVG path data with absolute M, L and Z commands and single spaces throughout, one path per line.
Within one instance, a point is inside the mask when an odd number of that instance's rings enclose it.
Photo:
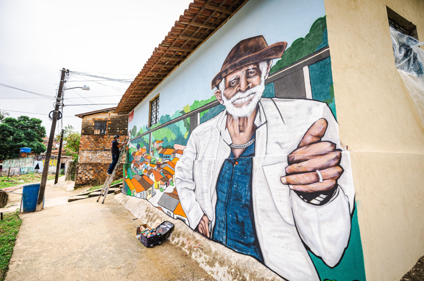
M 224 91 L 222 83 L 215 91 L 216 98 L 234 117 L 250 116 L 254 111 L 268 76 L 271 62 L 257 62 L 243 66 L 225 76 Z

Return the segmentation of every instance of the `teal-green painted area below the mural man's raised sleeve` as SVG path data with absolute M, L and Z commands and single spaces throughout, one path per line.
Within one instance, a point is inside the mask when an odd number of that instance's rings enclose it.
M 321 258 L 309 252 L 321 280 L 336 281 L 365 281 L 364 255 L 362 253 L 361 235 L 359 233 L 358 215 L 355 211 L 352 217 L 352 229 L 350 231 L 349 245 L 340 263 L 331 268 Z

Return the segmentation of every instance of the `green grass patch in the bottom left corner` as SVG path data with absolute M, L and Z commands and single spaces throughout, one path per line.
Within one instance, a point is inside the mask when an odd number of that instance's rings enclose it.
M 4 214 L 0 221 L 0 281 L 5 279 L 21 223 L 18 211 Z

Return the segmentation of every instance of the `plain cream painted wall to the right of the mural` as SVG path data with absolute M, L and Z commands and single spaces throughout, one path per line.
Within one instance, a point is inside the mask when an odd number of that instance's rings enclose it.
M 423 41 L 424 1 L 324 2 L 367 279 L 399 280 L 424 255 L 424 129 L 394 66 L 386 6 Z

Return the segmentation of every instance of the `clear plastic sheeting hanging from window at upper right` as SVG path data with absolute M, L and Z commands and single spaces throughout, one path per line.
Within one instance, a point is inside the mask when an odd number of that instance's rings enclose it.
M 421 119 L 424 128 L 424 45 L 413 37 L 404 35 L 390 27 L 394 61 Z

